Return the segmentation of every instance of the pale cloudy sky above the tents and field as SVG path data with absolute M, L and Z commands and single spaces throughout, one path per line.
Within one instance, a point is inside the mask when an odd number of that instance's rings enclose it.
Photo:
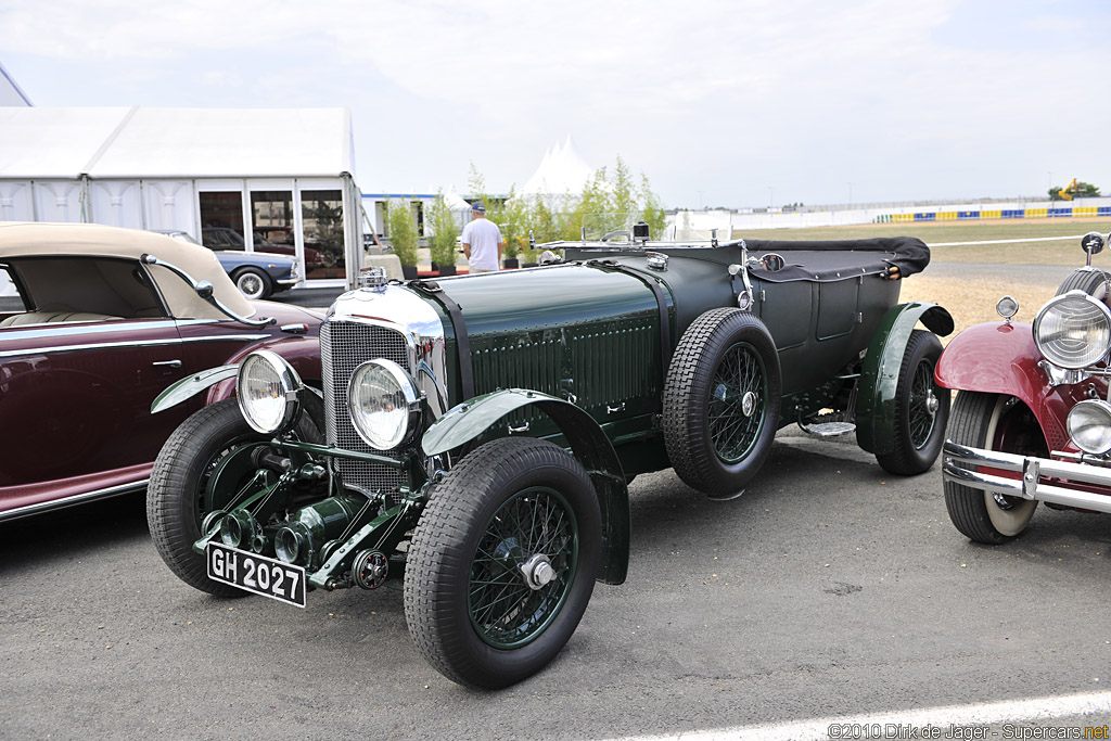
M 570 133 L 692 208 L 1111 192 L 1109 39 L 1107 0 L 0 0 L 36 106 L 344 106 L 364 192 Z

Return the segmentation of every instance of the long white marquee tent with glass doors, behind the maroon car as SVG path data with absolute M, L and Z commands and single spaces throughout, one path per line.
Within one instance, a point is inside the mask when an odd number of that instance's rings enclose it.
M 346 108 L 3 107 L 0 141 L 0 221 L 177 229 L 198 240 L 222 227 L 247 250 L 280 236 L 317 286 L 351 284 L 361 267 Z M 343 250 L 333 231 L 327 260 L 324 206 L 342 213 Z M 304 263 L 307 242 L 319 268 Z

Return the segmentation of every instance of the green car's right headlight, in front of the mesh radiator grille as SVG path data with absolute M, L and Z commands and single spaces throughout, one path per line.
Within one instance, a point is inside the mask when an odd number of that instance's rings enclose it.
M 393 397 L 394 409 L 398 411 L 398 424 L 392 429 L 382 430 L 370 424 L 373 411 L 366 411 L 366 399 L 362 392 L 373 382 L 384 382 L 391 385 L 388 395 Z M 381 394 L 379 395 L 381 398 Z M 348 414 L 354 431 L 362 441 L 376 450 L 393 450 L 408 444 L 420 427 L 422 394 L 417 389 L 417 382 L 409 373 L 392 360 L 377 358 L 360 364 L 351 373 L 348 382 Z

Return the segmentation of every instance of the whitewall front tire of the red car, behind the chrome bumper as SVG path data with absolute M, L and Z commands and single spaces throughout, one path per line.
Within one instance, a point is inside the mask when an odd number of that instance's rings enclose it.
M 1023 455 L 1048 455 L 1038 420 L 1013 397 L 961 391 L 953 402 L 949 439 L 962 445 Z M 967 467 L 965 467 L 967 468 Z M 945 509 L 953 525 L 978 543 L 998 545 L 1023 530 L 1037 500 L 992 494 L 947 481 Z

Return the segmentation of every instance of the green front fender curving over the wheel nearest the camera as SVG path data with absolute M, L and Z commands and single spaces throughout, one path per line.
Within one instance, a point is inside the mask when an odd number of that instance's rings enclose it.
M 421 448 L 428 455 L 453 450 L 526 407 L 537 407 L 556 422 L 571 452 L 590 474 L 602 511 L 602 568 L 599 580 L 608 584 L 622 583 L 629 572 L 629 489 L 613 445 L 590 414 L 569 401 L 537 391 L 494 391 L 448 410 L 424 432 Z

